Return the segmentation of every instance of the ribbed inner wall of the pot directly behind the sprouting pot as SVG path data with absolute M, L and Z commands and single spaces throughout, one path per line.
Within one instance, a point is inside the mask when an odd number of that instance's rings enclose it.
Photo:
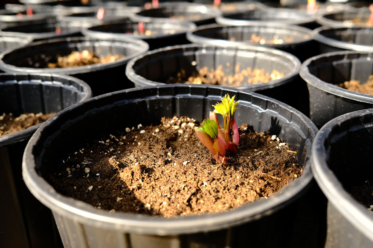
M 273 70 L 278 70 L 286 75 L 292 71 L 294 62 L 270 52 L 190 47 L 145 55 L 135 62 L 133 68 L 136 74 L 147 80 L 166 83 L 170 76 L 175 77 L 181 70 L 185 70 L 186 75 L 190 76 L 203 67 L 216 70 L 220 65 L 223 67 L 225 77 L 235 75 L 236 66 L 239 71 L 250 67 L 264 69 L 264 72 L 269 74 Z M 241 86 L 250 85 L 247 80 L 245 76 Z

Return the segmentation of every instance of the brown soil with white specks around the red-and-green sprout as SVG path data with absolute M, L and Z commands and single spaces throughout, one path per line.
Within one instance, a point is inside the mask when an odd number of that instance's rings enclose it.
M 99 209 L 170 218 L 267 198 L 301 175 L 297 152 L 269 132 L 239 127 L 238 155 L 219 164 L 195 135 L 195 125 L 175 116 L 102 135 L 54 158 L 49 181 L 58 192 Z

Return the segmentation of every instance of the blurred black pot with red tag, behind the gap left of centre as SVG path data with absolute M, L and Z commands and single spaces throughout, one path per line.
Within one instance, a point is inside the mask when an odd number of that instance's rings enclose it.
M 82 32 L 85 36 L 96 39 L 116 41 L 128 37 L 142 39 L 149 44 L 149 49 L 153 50 L 170 45 L 187 44 L 189 42 L 186 39 L 186 32 L 197 28 L 192 22 L 145 22 L 142 24 L 144 29 L 151 34 L 139 33 L 139 23 L 132 21 L 94 26 L 83 29 Z

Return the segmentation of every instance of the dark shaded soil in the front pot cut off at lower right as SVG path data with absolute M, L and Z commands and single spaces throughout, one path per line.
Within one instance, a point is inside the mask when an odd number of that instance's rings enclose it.
M 352 186 L 347 191 L 373 214 L 373 180 L 365 180 L 360 184 Z

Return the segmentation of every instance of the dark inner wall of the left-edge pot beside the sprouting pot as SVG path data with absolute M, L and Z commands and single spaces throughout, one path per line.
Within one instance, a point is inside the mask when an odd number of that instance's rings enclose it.
M 0 80 L 0 113 L 15 116 L 59 112 L 86 94 L 78 83 L 50 75 L 3 75 Z

